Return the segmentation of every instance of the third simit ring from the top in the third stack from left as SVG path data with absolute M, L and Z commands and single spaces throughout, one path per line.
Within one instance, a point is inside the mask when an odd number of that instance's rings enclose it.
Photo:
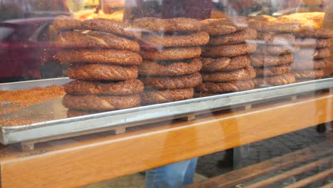
M 257 50 L 255 43 L 242 43 L 224 46 L 206 46 L 202 49 L 202 55 L 206 58 L 235 57 L 254 53 Z

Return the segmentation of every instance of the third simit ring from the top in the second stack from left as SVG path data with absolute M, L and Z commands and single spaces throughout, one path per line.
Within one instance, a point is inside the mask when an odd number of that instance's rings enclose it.
M 162 49 L 162 51 L 142 50 L 141 55 L 144 60 L 153 60 L 153 61 L 199 58 L 199 56 L 201 55 L 201 48 L 200 47 L 164 48 Z

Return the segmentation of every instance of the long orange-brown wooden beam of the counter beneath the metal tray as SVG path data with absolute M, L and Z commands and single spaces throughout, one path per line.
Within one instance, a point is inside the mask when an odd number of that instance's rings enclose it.
M 333 94 L 191 121 L 144 125 L 123 135 L 104 132 L 36 145 L 1 147 L 1 187 L 80 187 L 192 157 L 257 142 L 333 120 Z

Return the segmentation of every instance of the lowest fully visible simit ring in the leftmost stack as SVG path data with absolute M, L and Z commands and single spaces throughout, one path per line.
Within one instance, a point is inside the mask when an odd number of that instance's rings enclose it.
M 140 95 L 99 96 L 99 95 L 65 95 L 65 108 L 75 110 L 107 111 L 138 107 Z

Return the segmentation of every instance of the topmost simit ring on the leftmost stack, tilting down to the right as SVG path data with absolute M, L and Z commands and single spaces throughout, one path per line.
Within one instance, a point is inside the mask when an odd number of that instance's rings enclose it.
M 115 33 L 130 38 L 141 38 L 141 31 L 138 31 L 129 23 L 111 19 L 88 19 L 82 22 L 81 29 Z

